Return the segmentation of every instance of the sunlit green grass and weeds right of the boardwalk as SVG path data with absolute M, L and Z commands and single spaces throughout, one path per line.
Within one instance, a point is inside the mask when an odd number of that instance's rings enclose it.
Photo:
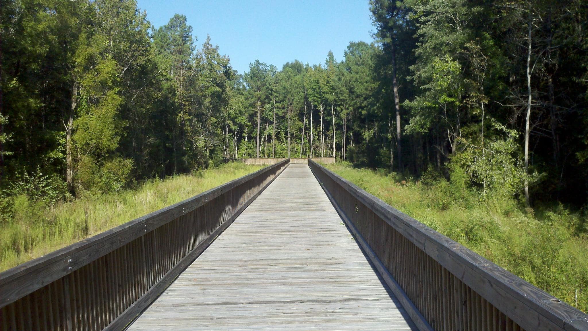
M 588 312 L 586 217 L 562 205 L 526 210 L 512 197 L 481 198 L 445 180 L 397 183 L 349 163 L 330 170 L 569 305 Z M 582 229 L 584 227 L 584 229 Z

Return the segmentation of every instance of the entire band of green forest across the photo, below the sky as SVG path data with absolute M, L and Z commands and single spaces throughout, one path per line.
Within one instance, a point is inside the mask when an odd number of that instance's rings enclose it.
M 368 10 L 368 4 L 366 4 Z M 376 42 L 240 75 L 183 15 L 2 1 L 0 188 L 52 203 L 244 157 L 330 157 L 583 205 L 581 0 L 372 0 Z

